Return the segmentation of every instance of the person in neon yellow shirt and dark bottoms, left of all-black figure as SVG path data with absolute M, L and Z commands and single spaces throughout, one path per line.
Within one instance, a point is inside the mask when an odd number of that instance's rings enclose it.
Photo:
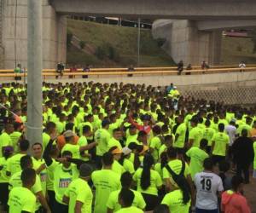
M 224 132 L 224 124 L 218 124 L 218 133 L 212 138 L 212 160 L 217 164 L 225 159 L 228 153 L 230 137 Z

